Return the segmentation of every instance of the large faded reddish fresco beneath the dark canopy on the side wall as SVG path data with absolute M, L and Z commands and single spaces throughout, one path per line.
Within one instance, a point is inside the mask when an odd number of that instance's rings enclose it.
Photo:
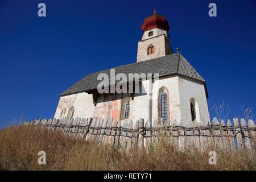
M 112 94 L 104 94 L 98 97 L 97 105 L 93 110 L 93 118 L 101 119 L 120 119 L 121 100 L 118 96 Z

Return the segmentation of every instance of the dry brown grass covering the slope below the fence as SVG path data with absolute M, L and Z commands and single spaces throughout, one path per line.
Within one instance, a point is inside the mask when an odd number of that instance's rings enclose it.
M 38 152 L 46 151 L 47 164 L 38 164 Z M 58 131 L 15 126 L 0 131 L 2 170 L 255 170 L 255 156 L 217 155 L 208 163 L 208 152 L 180 152 L 171 142 L 160 140 L 147 154 L 134 150 L 123 154 L 110 146 L 64 137 Z

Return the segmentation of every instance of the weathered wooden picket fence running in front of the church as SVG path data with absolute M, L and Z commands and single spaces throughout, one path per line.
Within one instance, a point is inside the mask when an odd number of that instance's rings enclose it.
M 51 130 L 60 130 L 64 135 L 85 140 L 93 140 L 103 144 L 110 144 L 124 151 L 130 151 L 134 148 L 150 149 L 152 144 L 158 142 L 158 139 L 164 137 L 171 139 L 179 150 L 193 146 L 197 150 L 203 151 L 206 147 L 221 149 L 225 152 L 237 153 L 246 152 L 253 154 L 255 152 L 255 123 L 252 120 L 248 122 L 245 119 L 238 121 L 233 119 L 233 125 L 228 119 L 221 123 L 216 118 L 208 125 L 200 126 L 200 123 L 189 121 L 191 127 L 179 126 L 176 121 L 171 126 L 163 122 L 158 127 L 155 120 L 151 126 L 150 122 L 144 122 L 139 119 L 133 121 L 112 121 L 112 119 L 36 119 L 26 122 L 25 125 L 42 126 Z M 241 123 L 241 124 L 240 124 Z

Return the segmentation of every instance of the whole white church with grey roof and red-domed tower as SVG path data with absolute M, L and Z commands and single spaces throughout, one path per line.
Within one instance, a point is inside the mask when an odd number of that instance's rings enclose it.
M 176 53 L 173 51 L 169 29 L 167 19 L 154 9 L 142 23 L 137 62 L 90 73 L 76 82 L 60 94 L 55 118 L 112 118 L 113 121 L 143 118 L 151 122 L 156 119 L 159 126 L 161 122 L 174 120 L 178 124 L 195 119 L 199 123 L 209 121 L 206 82 L 179 49 Z M 138 85 L 143 92 L 99 93 L 98 75 L 110 76 L 113 69 L 115 75 L 151 73 L 158 78 L 155 81 L 140 79 Z M 151 93 L 156 97 L 152 99 Z

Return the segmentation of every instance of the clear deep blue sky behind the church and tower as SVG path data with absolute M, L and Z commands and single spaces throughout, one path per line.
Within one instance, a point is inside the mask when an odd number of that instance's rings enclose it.
M 210 2 L 217 17 L 208 16 Z M 223 102 L 230 118 L 255 113 L 255 0 L 0 0 L 0 127 L 51 118 L 59 94 L 88 73 L 134 63 L 154 6 L 170 24 L 172 48 L 207 81 L 211 117 Z

